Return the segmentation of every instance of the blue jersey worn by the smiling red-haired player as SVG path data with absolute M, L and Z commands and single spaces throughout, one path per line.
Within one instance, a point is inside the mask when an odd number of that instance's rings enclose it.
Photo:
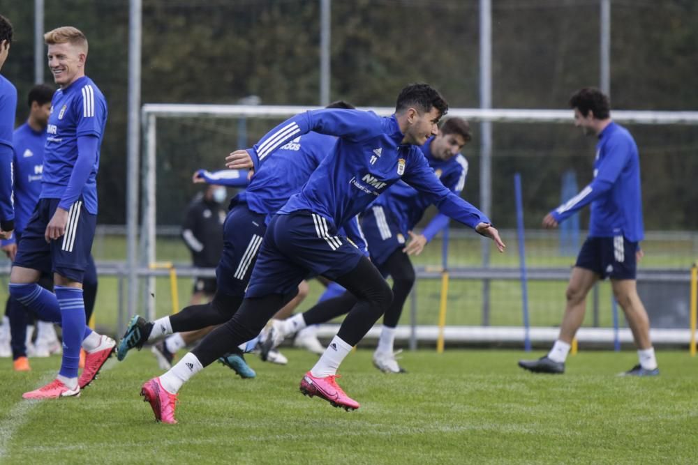
M 87 76 L 80 77 L 66 89 L 54 93 L 51 116 L 48 119 L 48 137 L 44 153 L 42 199 L 63 199 L 70 177 L 78 162 L 77 138 L 97 137 L 96 153 L 87 167 L 87 181 L 80 193 L 89 213 L 97 214 L 97 183 L 99 147 L 107 123 L 107 101 L 98 87 Z M 75 186 L 80 188 L 80 186 Z M 64 199 L 68 204 L 75 199 Z M 61 208 L 64 202 L 61 201 Z

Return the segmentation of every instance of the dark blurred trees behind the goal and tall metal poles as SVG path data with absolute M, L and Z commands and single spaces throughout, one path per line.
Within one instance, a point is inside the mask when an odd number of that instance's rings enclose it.
M 317 105 L 319 1 L 144 0 L 142 102 L 234 103 L 251 94 L 265 104 Z M 33 79 L 33 2 L 6 1 L 16 43 L 3 67 L 24 99 Z M 599 76 L 598 2 L 493 2 L 493 106 L 565 108 L 581 86 Z M 331 98 L 355 105 L 394 104 L 408 82 L 430 82 L 452 107 L 477 107 L 479 95 L 477 1 L 358 0 L 332 2 Z M 109 199 L 103 223 L 124 222 L 128 1 L 64 0 L 45 3 L 45 27 L 74 24 L 90 41 L 87 70 L 110 105 L 99 192 Z M 693 110 L 698 69 L 695 2 L 611 3 L 611 96 L 616 109 Z M 45 79 L 50 80 L 47 70 Z M 17 121 L 26 116 L 20 105 Z M 160 222 L 193 192 L 183 189 L 193 167 L 216 169 L 237 148 L 235 121 L 215 144 L 210 132 L 185 127 L 163 137 L 174 145 L 158 153 L 170 169 L 158 173 L 169 195 Z M 274 121 L 250 123 L 254 142 Z M 174 123 L 173 123 L 174 125 Z M 479 204 L 480 142 L 466 147 L 470 176 L 465 196 Z M 698 129 L 641 125 L 630 128 L 643 165 L 648 229 L 696 229 Z M 591 179 L 593 140 L 570 125 L 494 125 L 493 211 L 514 225 L 512 174 L 523 176 L 526 223 L 537 226 L 556 206 L 560 176 L 577 171 L 580 188 Z M 177 146 L 186 150 L 177 150 Z M 169 150 L 166 150 L 169 149 Z M 204 155 L 202 155 L 204 154 Z M 163 175 L 163 176 L 161 176 Z M 165 177 L 167 179 L 165 179 Z M 650 182 L 651 179 L 651 182 Z M 170 195 L 174 192 L 174 195 Z M 161 199 L 158 199 L 160 202 Z

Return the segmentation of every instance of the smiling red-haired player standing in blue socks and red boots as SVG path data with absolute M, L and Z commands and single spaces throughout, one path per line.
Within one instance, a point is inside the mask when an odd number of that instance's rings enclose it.
M 39 203 L 17 246 L 10 296 L 40 319 L 61 323 L 64 351 L 57 378 L 25 392 L 25 399 L 80 395 L 116 345 L 87 326 L 82 294 L 96 224 L 96 174 L 107 103 L 85 75 L 84 34 L 64 26 L 45 33 L 44 40 L 48 66 L 60 89 L 48 120 Z M 36 284 L 42 272 L 53 273 L 55 294 Z M 78 379 L 81 346 L 87 356 Z

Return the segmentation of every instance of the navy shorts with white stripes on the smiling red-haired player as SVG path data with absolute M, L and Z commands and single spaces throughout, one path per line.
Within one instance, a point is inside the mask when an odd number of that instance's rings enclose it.
M 69 280 L 82 282 L 92 250 L 97 215 L 85 208 L 82 197 L 70 206 L 66 234 L 46 243 L 44 234 L 61 199 L 39 199 L 29 224 L 17 244 L 14 266 L 57 273 Z

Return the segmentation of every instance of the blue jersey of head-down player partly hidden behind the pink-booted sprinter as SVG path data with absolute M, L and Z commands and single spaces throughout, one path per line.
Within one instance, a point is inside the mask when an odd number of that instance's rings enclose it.
M 422 146 L 422 152 L 426 157 L 426 161 L 429 162 L 429 166 L 434 170 L 434 173 L 443 185 L 449 188 L 455 195 L 461 195 L 461 191 L 466 185 L 466 176 L 468 176 L 468 161 L 460 153 L 448 160 L 434 158 L 431 155 L 432 141 L 433 137 Z M 414 229 L 431 203 L 426 196 L 419 195 L 415 188 L 412 188 L 404 181 L 398 181 L 390 186 L 384 195 L 380 195 L 371 204 L 371 206 L 373 205 L 383 206 L 385 211 L 392 213 L 392 218 L 396 221 L 400 232 L 407 236 L 408 231 Z M 431 241 L 438 231 L 447 226 L 448 220 L 449 218 L 443 215 L 443 213 L 438 213 L 434 216 L 424 229 L 423 234 L 427 241 Z

